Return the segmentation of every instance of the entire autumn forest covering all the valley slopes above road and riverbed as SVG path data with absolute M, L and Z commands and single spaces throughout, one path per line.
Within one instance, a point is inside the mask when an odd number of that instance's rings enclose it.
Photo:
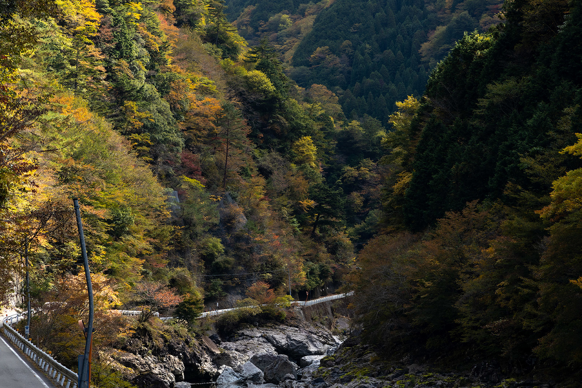
M 577 386 L 580 42 L 578 0 L 0 0 L 0 305 L 77 368 L 78 198 L 97 354 L 353 290 L 386 357 Z

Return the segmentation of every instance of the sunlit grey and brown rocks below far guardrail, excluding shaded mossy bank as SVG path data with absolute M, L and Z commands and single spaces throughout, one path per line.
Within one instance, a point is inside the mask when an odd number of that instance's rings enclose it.
M 307 319 L 299 312 L 292 316 L 285 324 L 246 325 L 223 337 L 196 336 L 180 325 L 145 323 L 118 344 L 111 358 L 140 388 L 187 387 L 186 382 L 272 387 L 307 380 L 340 340 L 330 330 L 334 319 L 329 306 L 310 311 Z M 346 326 L 346 319 L 336 321 Z

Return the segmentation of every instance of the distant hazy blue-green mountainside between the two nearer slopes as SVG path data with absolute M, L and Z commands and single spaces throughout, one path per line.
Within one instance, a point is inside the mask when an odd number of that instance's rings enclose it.
M 428 74 L 465 31 L 499 22 L 499 0 L 314 3 L 229 0 L 244 38 L 269 40 L 302 87 L 324 84 L 350 119 L 388 125 L 395 102 L 424 92 Z

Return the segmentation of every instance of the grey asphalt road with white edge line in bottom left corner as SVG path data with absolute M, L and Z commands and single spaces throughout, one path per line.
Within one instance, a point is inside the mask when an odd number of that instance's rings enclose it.
M 26 356 L 0 335 L 0 388 L 54 388 L 52 382 Z

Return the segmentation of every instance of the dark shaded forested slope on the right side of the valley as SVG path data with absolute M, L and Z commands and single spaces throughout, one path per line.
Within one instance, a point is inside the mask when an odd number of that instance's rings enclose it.
M 388 352 L 555 368 L 576 386 L 582 5 L 515 1 L 504 15 L 399 104 L 384 156 L 393 232 L 360 252 L 357 309 Z

